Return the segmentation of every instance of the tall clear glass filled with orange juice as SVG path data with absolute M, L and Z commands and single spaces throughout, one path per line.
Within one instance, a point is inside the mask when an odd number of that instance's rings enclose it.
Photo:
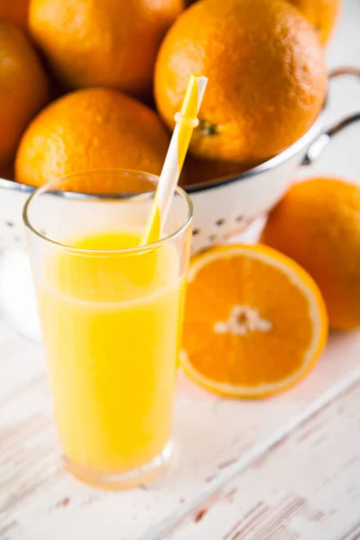
M 177 188 L 162 238 L 140 246 L 156 185 L 84 172 L 23 211 L 67 470 L 109 489 L 152 481 L 171 455 L 192 203 Z

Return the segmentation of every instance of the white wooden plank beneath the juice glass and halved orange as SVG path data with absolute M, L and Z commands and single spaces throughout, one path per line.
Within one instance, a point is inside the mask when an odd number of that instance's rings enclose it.
M 40 347 L 8 335 L 1 350 L 0 537 L 7 540 L 157 538 L 360 377 L 357 332 L 333 336 L 306 381 L 267 401 L 221 399 L 180 376 L 166 478 L 112 493 L 62 471 Z

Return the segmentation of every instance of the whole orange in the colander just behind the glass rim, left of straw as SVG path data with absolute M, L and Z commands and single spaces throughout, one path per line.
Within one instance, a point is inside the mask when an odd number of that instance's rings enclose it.
M 67 94 L 31 122 L 19 146 L 16 180 L 41 185 L 87 169 L 158 174 L 169 137 L 155 112 L 112 89 Z M 89 185 L 89 191 L 103 186 Z

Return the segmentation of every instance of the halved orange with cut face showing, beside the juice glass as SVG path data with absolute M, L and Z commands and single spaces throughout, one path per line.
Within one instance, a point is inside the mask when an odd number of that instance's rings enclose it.
M 328 337 L 320 290 L 275 249 L 214 247 L 189 269 L 184 371 L 213 392 L 257 398 L 308 374 Z

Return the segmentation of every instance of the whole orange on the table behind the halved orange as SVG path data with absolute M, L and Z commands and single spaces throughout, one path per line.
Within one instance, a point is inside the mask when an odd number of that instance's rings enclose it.
M 263 242 L 320 286 L 330 326 L 360 326 L 360 188 L 336 178 L 293 185 L 270 213 Z

